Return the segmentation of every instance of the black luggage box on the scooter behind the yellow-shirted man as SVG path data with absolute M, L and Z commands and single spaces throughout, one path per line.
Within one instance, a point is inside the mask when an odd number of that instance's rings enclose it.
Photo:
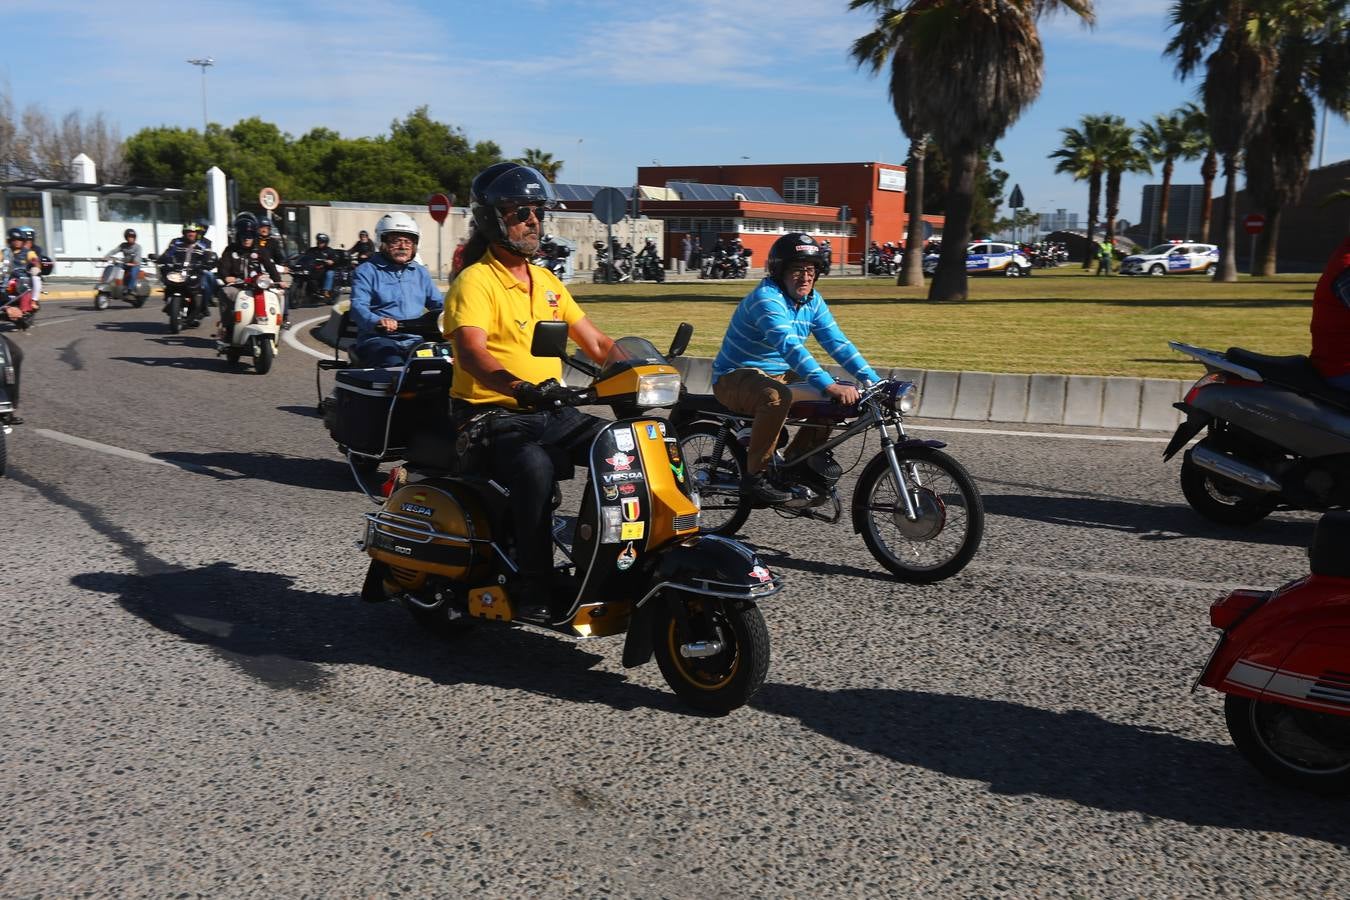
M 414 360 L 406 376 L 401 368 L 339 370 L 333 387 L 333 440 L 362 453 L 385 451 L 386 456 L 401 456 L 414 429 L 448 430 L 452 370 L 448 363 L 437 366 L 436 362 Z M 402 390 L 396 403 L 401 376 Z

